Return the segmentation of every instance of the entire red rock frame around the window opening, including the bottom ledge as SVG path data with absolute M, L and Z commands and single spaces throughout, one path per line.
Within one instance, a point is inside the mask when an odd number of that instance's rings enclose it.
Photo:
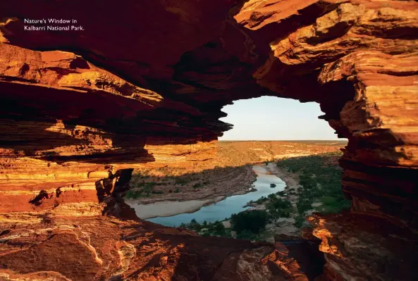
M 321 278 L 417 278 L 416 1 L 0 5 L 2 278 L 306 280 L 280 247 L 142 222 L 118 199 L 136 166 L 209 161 L 221 108 L 263 95 L 318 102 L 349 139 L 350 213 L 309 218 Z

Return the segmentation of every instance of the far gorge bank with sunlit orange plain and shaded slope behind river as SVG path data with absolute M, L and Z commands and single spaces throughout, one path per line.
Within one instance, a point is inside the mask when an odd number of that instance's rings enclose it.
M 328 141 L 216 142 L 217 153 L 204 161 L 190 159 L 193 161 L 135 168 L 130 187 L 132 192 L 143 193 L 129 198 L 135 198 L 140 204 L 152 204 L 246 193 L 256 180 L 253 165 L 283 157 L 337 151 L 343 145 L 343 142 Z M 145 196 L 146 189 L 150 190 L 149 196 Z

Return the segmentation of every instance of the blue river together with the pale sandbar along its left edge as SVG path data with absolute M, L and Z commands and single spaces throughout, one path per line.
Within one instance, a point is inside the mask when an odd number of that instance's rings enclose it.
M 218 197 L 208 200 L 162 201 L 154 204 L 133 204 L 131 207 L 135 208 L 138 217 L 171 227 L 190 223 L 193 218 L 198 223 L 203 223 L 204 220 L 208 223 L 224 220 L 230 218 L 233 213 L 240 213 L 250 208 L 243 207 L 248 201 L 255 201 L 285 188 L 285 182 L 276 175 L 270 175 L 264 166 L 254 165 L 252 170 L 257 174 L 257 180 L 253 183 L 254 188 L 257 189 L 255 192 L 231 195 L 225 199 Z M 271 187 L 271 184 L 275 184 L 276 187 Z M 190 210 L 197 211 L 190 213 Z M 186 213 L 188 211 L 189 213 Z

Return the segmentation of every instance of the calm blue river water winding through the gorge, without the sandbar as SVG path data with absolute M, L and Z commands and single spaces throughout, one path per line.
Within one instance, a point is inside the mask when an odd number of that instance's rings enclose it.
M 204 220 L 207 220 L 208 223 L 213 223 L 216 220 L 229 218 L 233 213 L 245 211 L 249 207 L 242 208 L 242 206 L 245 206 L 250 200 L 257 200 L 261 196 L 268 196 L 271 193 L 282 191 L 285 188 L 285 182 L 279 177 L 276 177 L 276 175 L 266 174 L 267 171 L 263 166 L 256 165 L 253 166 L 252 169 L 258 175 L 257 180 L 254 182 L 254 187 L 257 189 L 256 192 L 228 196 L 226 199 L 223 199 L 216 204 L 200 208 L 199 211 L 196 211 L 195 213 L 180 213 L 176 216 L 156 217 L 147 220 L 167 226 L 179 226 L 180 223 L 190 223 L 190 220 L 193 218 L 197 220 L 198 223 L 203 223 Z M 276 184 L 276 187 L 271 188 L 271 183 Z M 165 203 L 169 204 L 168 202 Z M 173 201 L 173 204 L 178 203 L 178 201 Z M 186 204 L 186 202 L 182 203 Z M 152 206 L 149 207 L 152 208 Z M 137 212 L 137 216 L 141 217 L 140 213 Z

